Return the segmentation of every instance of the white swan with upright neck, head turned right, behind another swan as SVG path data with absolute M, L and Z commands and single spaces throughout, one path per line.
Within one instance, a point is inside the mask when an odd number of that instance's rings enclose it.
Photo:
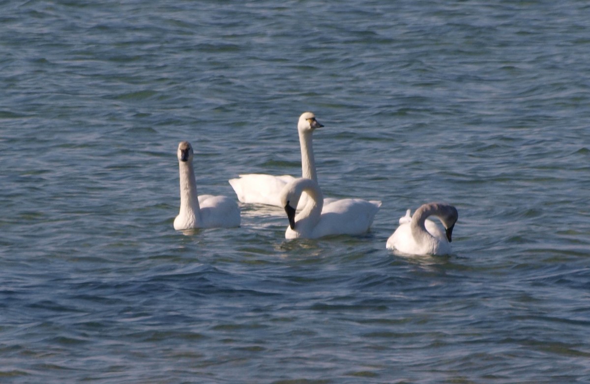
M 312 112 L 304 112 L 299 117 L 297 131 L 301 147 L 301 175 L 317 183 L 316 162 L 313 158 L 312 133 L 323 125 L 316 120 Z M 291 175 L 273 176 L 266 174 L 246 174 L 230 180 L 238 200 L 242 203 L 268 204 L 281 206 L 279 194 L 283 187 L 295 180 Z M 307 198 L 302 198 L 299 209 L 303 208 Z

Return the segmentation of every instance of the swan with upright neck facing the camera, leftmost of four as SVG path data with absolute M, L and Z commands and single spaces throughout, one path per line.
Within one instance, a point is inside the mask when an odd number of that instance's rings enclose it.
M 240 208 L 227 196 L 196 194 L 194 152 L 188 141 L 178 144 L 178 167 L 181 178 L 181 210 L 174 219 L 174 229 L 239 227 Z

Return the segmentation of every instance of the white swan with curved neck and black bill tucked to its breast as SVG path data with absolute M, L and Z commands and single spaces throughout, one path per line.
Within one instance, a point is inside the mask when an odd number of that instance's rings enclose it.
M 309 196 L 300 213 L 295 216 L 301 194 Z M 326 202 L 316 181 L 297 178 L 283 187 L 281 205 L 287 212 L 289 226 L 286 239 L 317 239 L 329 235 L 358 235 L 369 229 L 381 201 L 345 198 Z

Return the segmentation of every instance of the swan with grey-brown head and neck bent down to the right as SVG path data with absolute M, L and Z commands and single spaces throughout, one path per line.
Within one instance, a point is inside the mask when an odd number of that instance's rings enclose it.
M 427 217 L 435 216 L 442 222 L 445 232 Z M 448 255 L 451 253 L 451 235 L 458 219 L 457 209 L 449 204 L 423 204 L 410 216 L 410 210 L 399 219 L 399 227 L 387 239 L 387 249 L 396 249 L 411 255 Z

